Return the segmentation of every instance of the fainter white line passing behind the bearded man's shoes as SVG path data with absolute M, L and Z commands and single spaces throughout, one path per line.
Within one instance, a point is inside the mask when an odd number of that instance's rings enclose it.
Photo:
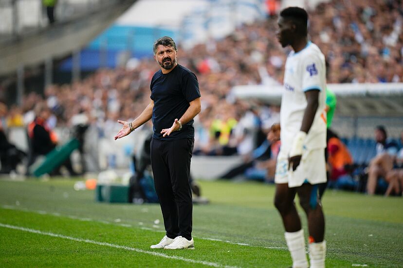
M 39 213 L 38 211 L 31 211 L 28 210 L 26 208 L 16 208 L 14 206 L 9 206 L 9 205 L 3 205 L 2 208 L 5 209 L 12 209 L 12 210 L 24 210 L 24 211 L 29 211 L 29 212 L 35 212 L 35 213 Z M 41 213 L 39 213 L 41 214 Z M 57 213 L 58 214 L 58 213 Z M 58 214 L 57 216 L 61 216 L 60 214 Z M 97 221 L 100 223 L 104 223 L 104 224 L 111 224 L 111 222 L 106 221 L 106 220 L 92 220 L 90 218 L 78 218 L 76 216 L 72 216 L 72 215 L 68 215 L 67 218 L 71 218 L 71 219 L 78 219 L 78 220 L 83 220 L 83 221 Z M 120 219 L 119 219 L 120 220 Z M 116 222 L 116 220 L 114 220 Z M 141 223 L 141 224 L 140 224 Z M 143 222 L 139 222 L 140 225 L 143 224 Z M 131 227 L 130 224 L 118 224 L 120 226 L 123 227 Z M 140 227 L 141 230 L 147 230 L 147 231 L 153 231 L 153 232 L 158 232 L 158 233 L 165 233 L 164 230 L 157 230 L 157 228 L 159 228 L 158 225 L 153 225 L 153 228 L 149 228 L 149 227 Z M 263 249 L 269 249 L 269 250 L 288 250 L 287 247 L 264 247 L 264 246 L 254 246 L 254 245 L 250 245 L 250 244 L 246 244 L 246 243 L 238 243 L 238 242 L 232 242 L 232 241 L 228 241 L 228 240 L 222 240 L 222 239 L 217 239 L 217 238 L 207 238 L 207 237 L 200 237 L 201 239 L 205 239 L 205 240 L 210 240 L 210 241 L 218 241 L 218 242 L 224 242 L 224 243 L 228 243 L 228 244 L 232 244 L 232 245 L 239 245 L 239 246 L 247 246 L 247 247 L 254 247 L 254 248 L 263 248 Z M 331 250 L 331 249 L 328 249 Z

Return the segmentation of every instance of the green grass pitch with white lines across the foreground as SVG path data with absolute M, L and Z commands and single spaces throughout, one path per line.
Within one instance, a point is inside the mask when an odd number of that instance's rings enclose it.
M 274 185 L 200 181 L 195 250 L 151 250 L 158 204 L 95 202 L 73 180 L 0 180 L 0 267 L 290 267 Z M 327 267 L 403 267 L 403 200 L 327 191 Z M 304 229 L 306 218 L 299 209 Z M 307 231 L 305 231 L 307 236 Z

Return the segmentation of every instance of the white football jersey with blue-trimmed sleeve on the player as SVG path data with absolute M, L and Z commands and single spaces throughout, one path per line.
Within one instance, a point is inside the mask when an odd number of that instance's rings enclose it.
M 307 107 L 305 92 L 312 89 L 319 89 L 320 93 L 319 106 L 304 144 L 308 151 L 326 148 L 325 56 L 309 41 L 303 50 L 297 53 L 292 51 L 287 57 L 280 110 L 281 150 L 291 150 Z

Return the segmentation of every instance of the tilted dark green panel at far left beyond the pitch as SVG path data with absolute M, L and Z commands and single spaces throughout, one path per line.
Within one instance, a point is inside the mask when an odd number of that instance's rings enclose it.
M 59 167 L 74 150 L 78 149 L 79 145 L 80 142 L 77 139 L 71 139 L 62 146 L 56 147 L 46 155 L 45 160 L 40 163 L 32 173 L 34 176 L 40 177 L 43 174 L 52 172 L 55 168 Z

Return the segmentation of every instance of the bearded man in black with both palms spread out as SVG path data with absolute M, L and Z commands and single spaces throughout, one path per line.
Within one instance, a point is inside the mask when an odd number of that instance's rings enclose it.
M 151 249 L 193 249 L 190 158 L 194 145 L 193 117 L 201 111 L 199 83 L 189 69 L 178 65 L 177 48 L 164 36 L 154 43 L 161 69 L 151 80 L 151 101 L 115 136 L 122 138 L 152 119 L 151 166 L 166 235 Z

